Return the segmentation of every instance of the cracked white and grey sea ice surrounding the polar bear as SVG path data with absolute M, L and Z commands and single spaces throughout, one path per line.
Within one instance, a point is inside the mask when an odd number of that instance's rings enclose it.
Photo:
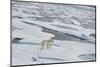
M 49 49 L 42 41 L 53 39 Z M 95 7 L 12 1 L 12 65 L 95 60 Z

